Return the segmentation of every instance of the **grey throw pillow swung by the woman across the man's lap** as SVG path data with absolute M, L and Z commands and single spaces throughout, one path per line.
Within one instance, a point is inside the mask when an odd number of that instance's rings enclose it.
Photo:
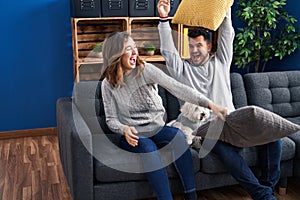
M 218 139 L 238 147 L 274 142 L 300 130 L 300 126 L 258 106 L 245 106 L 197 129 L 196 135 Z

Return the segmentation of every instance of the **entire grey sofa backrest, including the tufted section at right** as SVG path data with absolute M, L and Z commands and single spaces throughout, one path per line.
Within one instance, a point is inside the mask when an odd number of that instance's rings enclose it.
M 300 71 L 231 73 L 231 91 L 236 108 L 257 105 L 286 118 L 300 116 Z M 167 122 L 179 114 L 179 101 L 159 87 Z M 112 133 L 105 123 L 101 81 L 81 81 L 74 85 L 73 102 L 92 133 Z M 99 126 L 100 125 L 100 126 Z M 103 130 L 99 132 L 99 129 Z

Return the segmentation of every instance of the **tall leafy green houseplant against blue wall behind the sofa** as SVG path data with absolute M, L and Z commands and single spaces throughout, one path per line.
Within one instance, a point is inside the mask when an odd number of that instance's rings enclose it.
M 286 0 L 240 0 L 236 16 L 245 22 L 234 41 L 234 64 L 238 68 L 264 71 L 274 57 L 279 59 L 300 45 L 297 20 L 284 9 Z

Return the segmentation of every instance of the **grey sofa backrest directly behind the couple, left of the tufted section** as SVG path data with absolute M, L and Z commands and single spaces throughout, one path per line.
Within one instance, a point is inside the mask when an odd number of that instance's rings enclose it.
M 236 108 L 247 105 L 242 76 L 231 74 L 231 87 L 233 102 Z M 166 109 L 166 122 L 176 119 L 179 115 L 179 100 L 162 87 L 158 87 Z M 80 81 L 75 83 L 73 90 L 73 103 L 80 111 L 92 133 L 112 133 L 106 125 L 103 101 L 101 96 L 101 81 Z M 103 131 L 99 131 L 100 127 Z

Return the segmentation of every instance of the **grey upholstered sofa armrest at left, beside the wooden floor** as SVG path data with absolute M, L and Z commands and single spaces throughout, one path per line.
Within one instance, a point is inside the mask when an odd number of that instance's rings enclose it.
M 91 132 L 71 98 L 58 99 L 56 111 L 59 153 L 73 199 L 93 199 Z

